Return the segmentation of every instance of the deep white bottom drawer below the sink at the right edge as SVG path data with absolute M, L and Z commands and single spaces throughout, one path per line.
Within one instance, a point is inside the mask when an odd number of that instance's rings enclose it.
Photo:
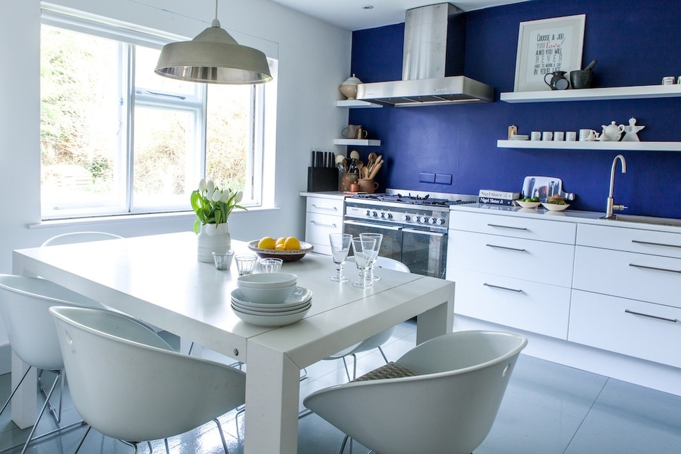
M 676 307 L 574 290 L 568 340 L 681 367 L 680 319 Z

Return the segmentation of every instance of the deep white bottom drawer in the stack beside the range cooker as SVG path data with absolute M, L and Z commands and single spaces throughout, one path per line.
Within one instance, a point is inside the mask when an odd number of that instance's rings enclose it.
M 570 289 L 468 270 L 455 281 L 454 312 L 556 338 L 568 338 Z

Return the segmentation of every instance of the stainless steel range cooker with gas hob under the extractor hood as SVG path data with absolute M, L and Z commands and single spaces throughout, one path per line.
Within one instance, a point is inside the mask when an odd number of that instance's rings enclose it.
M 449 207 L 477 202 L 473 195 L 387 190 L 345 199 L 343 232 L 383 235 L 380 255 L 415 274 L 444 279 Z

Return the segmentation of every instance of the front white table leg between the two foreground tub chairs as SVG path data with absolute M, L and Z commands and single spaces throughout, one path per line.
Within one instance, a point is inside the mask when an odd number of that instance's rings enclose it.
M 298 449 L 300 368 L 281 352 L 248 344 L 245 454 Z

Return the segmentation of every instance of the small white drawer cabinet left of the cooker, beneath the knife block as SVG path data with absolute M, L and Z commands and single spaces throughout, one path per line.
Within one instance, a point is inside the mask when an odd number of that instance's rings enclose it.
M 305 241 L 319 254 L 331 255 L 329 233 L 343 233 L 343 197 L 307 197 Z

